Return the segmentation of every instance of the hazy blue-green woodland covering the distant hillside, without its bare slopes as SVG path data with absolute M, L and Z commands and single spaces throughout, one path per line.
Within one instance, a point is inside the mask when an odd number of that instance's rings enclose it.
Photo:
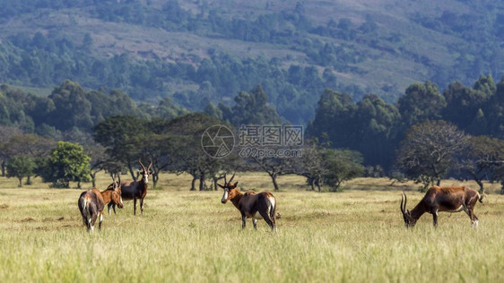
M 42 17 L 66 10 L 100 21 L 126 22 L 210 39 L 267 43 L 303 55 L 302 59 L 290 55 L 238 57 L 209 48 L 208 56 L 189 51 L 184 58 L 161 58 L 154 52 L 146 58 L 126 53 L 105 58 L 95 54 L 90 33 L 83 32 L 79 39 L 56 30 L 18 32 L 0 41 L 2 82 L 52 87 L 70 79 L 89 89 L 121 89 L 139 101 L 156 102 L 170 95 L 179 107 L 191 111 L 203 110 L 209 101 L 232 104 L 236 93 L 251 90 L 257 84 L 264 88 L 269 103 L 278 113 L 296 124 L 313 119 L 318 95 L 325 89 L 347 92 L 352 99 L 360 100 L 372 91 L 342 84 L 335 76 L 335 72 L 357 75 L 367 72 L 356 66 L 373 56 L 352 42 L 359 34 L 366 35 L 358 40 L 365 47 L 427 66 L 430 81 L 438 85 L 447 85 L 454 78 L 467 84 L 481 73 L 501 72 L 500 30 L 504 29 L 504 14 L 491 4 L 485 6 L 488 13 L 466 15 L 447 11 L 437 18 L 420 13 L 411 15 L 413 21 L 427 29 L 447 36 L 464 35 L 464 43 L 449 47 L 451 53 L 461 58 L 455 65 L 437 64 L 408 50 L 404 36 L 383 32 L 371 16 L 359 24 L 344 17 L 319 24 L 309 19 L 302 3 L 256 17 L 230 16 L 230 11 L 206 2 L 196 4 L 197 9 L 192 10 L 183 8 L 178 1 L 167 1 L 161 6 L 138 0 L 1 0 L 0 4 L 4 7 L 0 21 L 4 22 L 26 14 Z M 468 25 L 467 17 L 478 24 Z M 335 44 L 322 38 L 346 41 Z M 320 67 L 326 72 L 318 73 Z M 173 87 L 180 85 L 189 87 Z M 387 102 L 401 94 L 393 88 L 380 90 L 385 92 L 381 97 L 386 97 Z

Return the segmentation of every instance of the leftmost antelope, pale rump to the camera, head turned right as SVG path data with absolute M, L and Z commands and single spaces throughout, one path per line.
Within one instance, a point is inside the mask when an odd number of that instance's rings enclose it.
M 100 218 L 98 228 L 101 229 L 103 208 L 108 202 L 114 202 L 119 208 L 123 208 L 121 187 L 119 184 L 114 180 L 114 187 L 111 189 L 100 192 L 98 189 L 93 188 L 81 193 L 78 205 L 83 216 L 83 224 L 88 228 L 88 231 L 94 231 L 94 223 L 98 218 Z

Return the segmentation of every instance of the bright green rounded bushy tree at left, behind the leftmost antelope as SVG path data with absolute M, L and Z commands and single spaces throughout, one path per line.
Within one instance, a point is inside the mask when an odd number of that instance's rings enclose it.
M 40 175 L 44 182 L 51 182 L 53 187 L 69 188 L 70 182 L 90 180 L 90 158 L 83 153 L 83 147 L 72 142 L 57 142 L 48 159 L 39 161 Z

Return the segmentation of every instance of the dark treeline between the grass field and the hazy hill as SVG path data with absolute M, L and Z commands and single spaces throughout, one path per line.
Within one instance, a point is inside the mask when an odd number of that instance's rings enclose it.
M 306 154 L 300 160 L 242 158 L 237 152 L 223 160 L 202 150 L 201 136 L 208 127 L 227 124 L 238 134 L 242 124 L 288 124 L 268 104 L 261 86 L 240 91 L 233 107 L 208 103 L 204 113 L 190 114 L 170 99 L 157 106 L 136 104 L 121 90 L 84 90 L 74 81 L 64 81 L 47 98 L 2 85 L 2 169 L 14 157 L 41 158 L 50 141 L 66 141 L 84 145 L 91 155 L 91 176 L 124 167 L 135 177 L 135 160 L 152 159 L 154 182 L 164 170 L 185 172 L 194 177 L 193 188 L 199 180 L 200 189 L 208 178 L 216 184 L 226 168 L 265 171 L 276 189 L 276 177 L 286 174 L 306 176 L 312 188 L 322 184 L 337 188 L 353 176 L 398 173 L 424 184 L 446 176 L 477 178 L 481 184 L 482 179 L 504 176 L 502 111 L 504 79 L 496 84 L 491 75 L 482 75 L 473 86 L 450 83 L 442 93 L 430 81 L 416 82 L 395 104 L 372 94 L 355 103 L 349 94 L 326 89 L 315 120 L 306 128 Z M 443 158 L 425 155 L 436 149 L 443 149 Z M 473 163 L 460 162 L 456 167 L 456 160 L 472 160 L 479 169 L 461 170 Z

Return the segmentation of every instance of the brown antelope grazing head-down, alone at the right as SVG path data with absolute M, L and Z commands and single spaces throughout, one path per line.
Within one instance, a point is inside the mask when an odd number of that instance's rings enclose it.
M 434 227 L 437 227 L 438 212 L 460 212 L 462 210 L 464 210 L 471 219 L 473 227 L 478 227 L 478 218 L 474 215 L 474 205 L 477 201 L 482 202 L 482 196 L 471 188 L 465 186 L 432 186 L 411 211 L 406 210 L 407 198 L 404 192 L 403 194 L 404 198 L 401 196 L 401 212 L 403 213 L 406 227 L 414 227 L 416 221 L 420 219 L 425 212 L 432 214 Z

